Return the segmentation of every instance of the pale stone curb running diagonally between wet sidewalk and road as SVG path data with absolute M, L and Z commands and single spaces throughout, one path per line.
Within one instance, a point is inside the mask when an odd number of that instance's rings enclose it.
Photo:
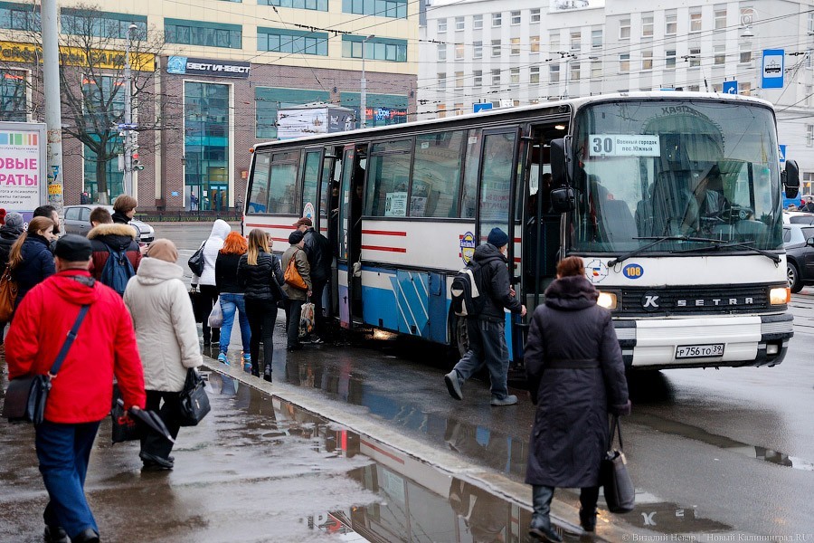
M 406 455 L 412 456 L 416 460 L 425 462 L 441 472 L 448 472 L 460 479 L 476 480 L 480 486 L 487 489 L 506 500 L 519 503 L 526 510 L 532 510 L 531 487 L 517 481 L 512 481 L 502 473 L 485 469 L 472 462 L 467 462 L 459 456 L 446 452 L 440 448 L 433 447 L 427 443 L 421 443 L 414 438 L 402 433 L 393 432 L 385 424 L 371 420 L 365 416 L 367 410 L 364 406 L 356 406 L 337 402 L 329 398 L 317 398 L 314 395 L 304 395 L 298 386 L 287 383 L 268 383 L 260 377 L 251 376 L 239 367 L 225 366 L 217 360 L 204 355 L 204 367 L 220 374 L 231 376 L 246 386 L 251 386 L 268 395 L 278 397 L 280 400 L 297 405 L 312 414 L 317 414 L 336 424 L 341 424 L 356 433 L 370 435 L 374 439 L 386 443 Z M 342 409 L 336 409 L 336 405 L 342 405 Z M 334 409 L 332 409 L 334 407 Z M 351 410 L 355 409 L 358 414 Z M 327 416 L 325 413 L 331 413 Z M 398 445 L 393 443 L 399 443 Z M 553 523 L 563 529 L 568 535 L 581 536 L 582 529 L 564 519 L 578 519 L 579 510 L 563 501 L 554 498 L 551 504 L 551 517 Z M 601 512 L 597 519 L 597 526 L 601 527 L 601 535 L 593 536 L 592 541 L 610 543 L 614 541 L 628 540 L 633 532 L 631 528 L 624 529 L 614 525 L 614 517 L 610 513 Z

